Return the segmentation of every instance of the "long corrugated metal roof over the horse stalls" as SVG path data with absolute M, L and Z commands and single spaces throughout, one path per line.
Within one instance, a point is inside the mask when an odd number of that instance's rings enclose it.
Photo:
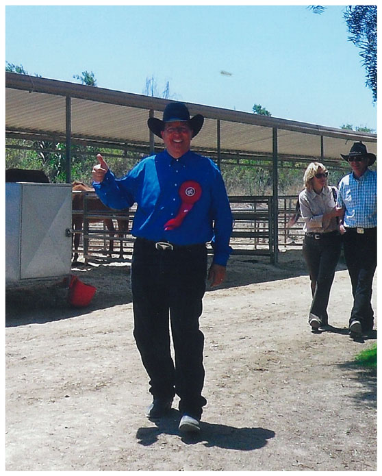
M 168 103 L 165 99 L 16 73 L 5 73 L 5 86 L 5 129 L 20 136 L 34 133 L 63 138 L 66 134 L 66 97 L 71 97 L 73 138 L 149 147 L 149 111 L 162 118 Z M 320 159 L 322 138 L 327 160 L 341 161 L 340 153 L 348 153 L 356 140 L 364 142 L 368 151 L 377 153 L 376 134 L 186 104 L 192 115 L 205 116 L 203 129 L 192 140 L 192 148 L 216 153 L 220 123 L 223 158 L 235 153 L 253 157 L 272 155 L 274 129 L 277 129 L 280 158 Z M 155 145 L 162 145 L 157 137 Z

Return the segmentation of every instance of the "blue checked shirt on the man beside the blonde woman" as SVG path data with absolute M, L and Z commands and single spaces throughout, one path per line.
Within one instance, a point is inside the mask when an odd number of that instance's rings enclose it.
M 359 179 L 354 177 L 353 172 L 343 177 L 338 186 L 338 206 L 345 208 L 345 227 L 376 227 L 377 172 L 367 168 Z

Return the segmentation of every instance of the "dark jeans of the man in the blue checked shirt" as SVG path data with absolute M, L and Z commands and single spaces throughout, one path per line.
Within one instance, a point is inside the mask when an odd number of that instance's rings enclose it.
M 377 228 L 365 229 L 364 234 L 358 234 L 355 228 L 347 228 L 344 255 L 353 292 L 349 324 L 357 320 L 363 331 L 371 331 L 374 325 L 371 298 L 372 280 L 377 267 Z

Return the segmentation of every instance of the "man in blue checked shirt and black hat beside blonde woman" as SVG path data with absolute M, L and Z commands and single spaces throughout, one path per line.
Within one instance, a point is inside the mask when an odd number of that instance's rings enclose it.
M 377 267 L 377 172 L 368 166 L 377 157 L 361 142 L 355 142 L 348 155 L 341 155 L 352 168 L 340 181 L 338 206 L 344 209 L 340 231 L 353 292 L 349 333 L 359 338 L 374 325 L 371 298 Z

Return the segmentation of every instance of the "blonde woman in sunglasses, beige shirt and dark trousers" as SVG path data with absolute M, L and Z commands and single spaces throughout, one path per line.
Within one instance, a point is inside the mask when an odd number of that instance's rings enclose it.
M 303 256 L 311 281 L 311 307 L 308 323 L 312 330 L 328 326 L 327 305 L 335 266 L 341 252 L 336 208 L 337 188 L 327 185 L 328 171 L 320 162 L 311 162 L 304 174 L 304 190 L 298 196 L 305 237 Z

